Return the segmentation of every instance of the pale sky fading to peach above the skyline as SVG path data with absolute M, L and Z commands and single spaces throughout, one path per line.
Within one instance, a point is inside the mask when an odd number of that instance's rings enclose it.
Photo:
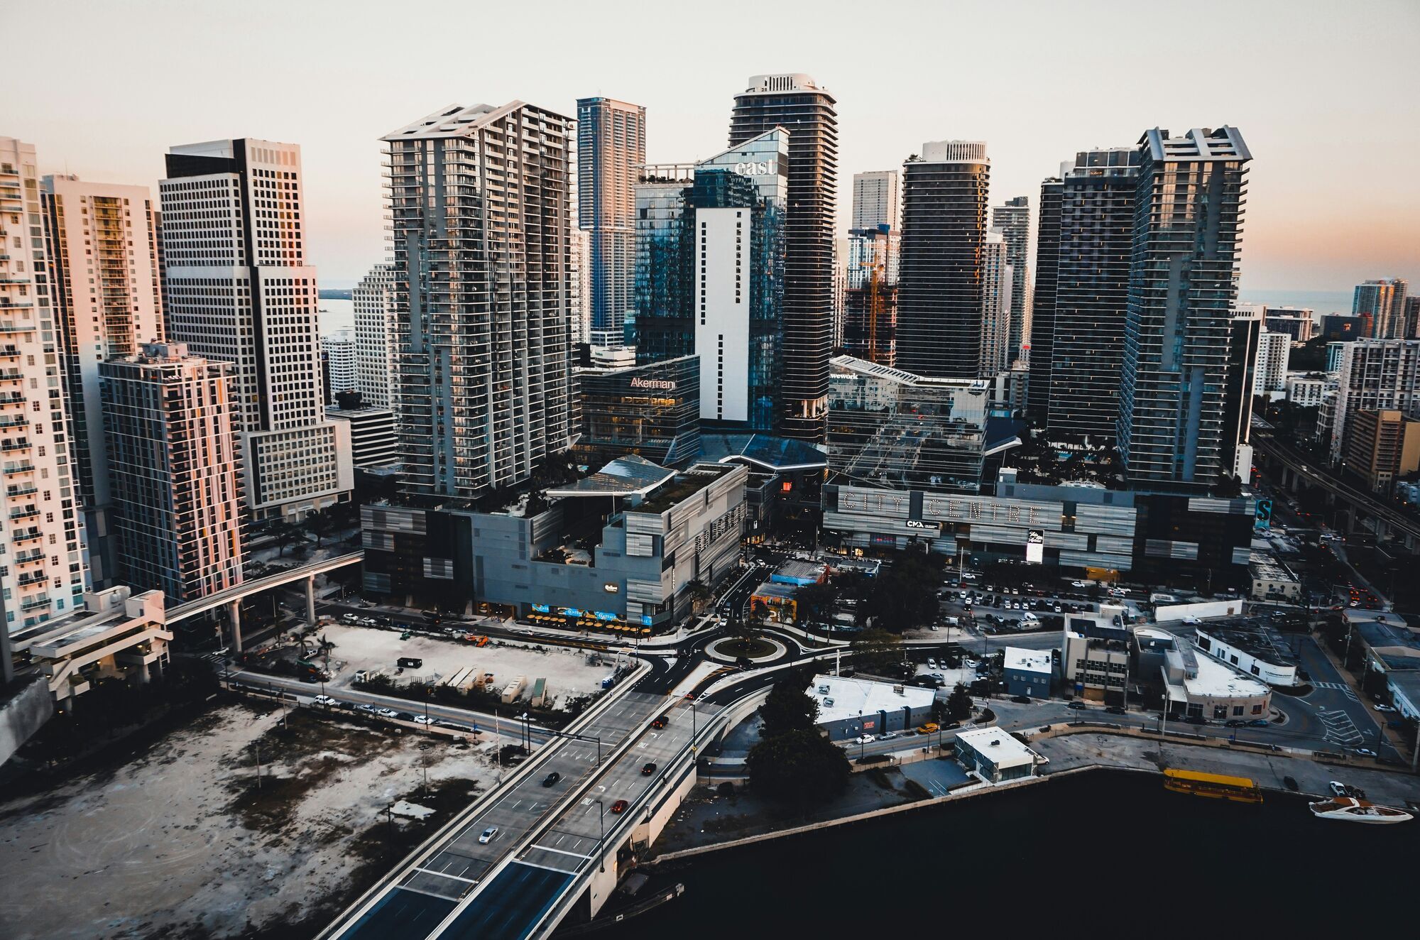
M 646 106 L 648 160 L 693 160 L 724 149 L 764 72 L 838 99 L 845 229 L 852 175 L 923 141 L 985 141 L 993 203 L 1034 209 L 1075 151 L 1231 124 L 1252 152 L 1245 293 L 1420 281 L 1417 0 L 6 6 L 0 135 L 41 172 L 156 193 L 172 145 L 300 143 L 308 257 L 332 287 L 385 257 L 383 133 L 453 104 L 575 116 L 608 95 Z

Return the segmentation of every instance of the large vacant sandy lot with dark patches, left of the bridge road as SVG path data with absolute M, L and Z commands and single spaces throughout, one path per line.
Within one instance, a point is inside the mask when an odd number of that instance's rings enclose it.
M 385 852 L 390 802 L 437 804 L 437 825 L 493 778 L 487 748 L 422 751 L 417 736 L 305 714 L 288 733 L 278 723 L 226 706 L 115 771 L 0 805 L 0 934 L 312 936 L 322 905 Z

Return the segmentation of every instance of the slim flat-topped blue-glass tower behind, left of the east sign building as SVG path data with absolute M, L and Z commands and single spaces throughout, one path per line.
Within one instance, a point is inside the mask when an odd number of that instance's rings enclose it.
M 623 342 L 633 310 L 636 168 L 646 162 L 646 109 L 613 98 L 577 102 L 578 226 L 588 233 L 592 342 Z

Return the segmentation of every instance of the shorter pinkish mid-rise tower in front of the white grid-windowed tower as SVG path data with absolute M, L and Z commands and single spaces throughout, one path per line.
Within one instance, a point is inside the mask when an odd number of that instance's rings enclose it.
M 173 603 L 241 584 L 241 476 L 231 366 L 183 344 L 99 365 L 118 576 Z

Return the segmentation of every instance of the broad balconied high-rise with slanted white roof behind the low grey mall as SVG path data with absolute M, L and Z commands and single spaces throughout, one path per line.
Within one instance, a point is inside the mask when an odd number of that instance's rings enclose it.
M 514 101 L 383 138 L 410 496 L 477 498 L 571 446 L 569 132 Z

